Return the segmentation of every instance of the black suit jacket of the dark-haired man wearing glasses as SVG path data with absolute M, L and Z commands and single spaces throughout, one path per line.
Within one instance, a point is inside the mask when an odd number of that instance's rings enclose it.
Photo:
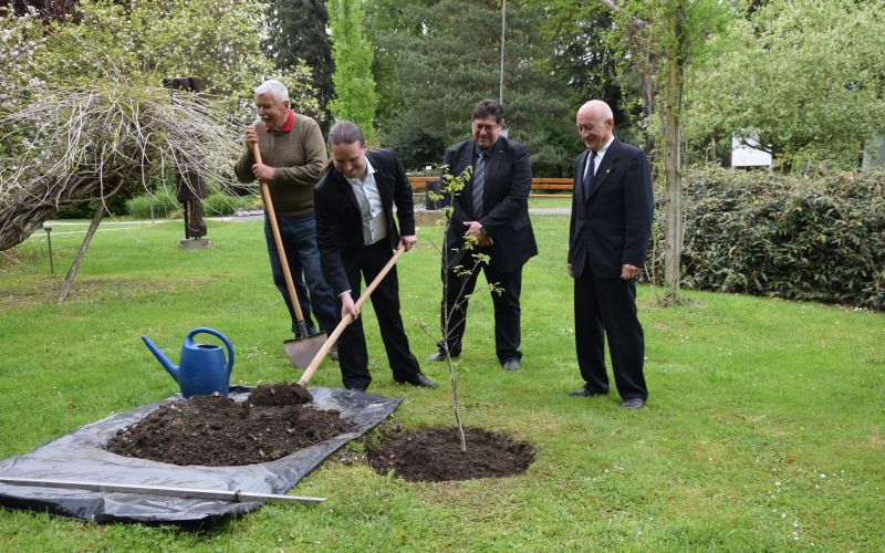
M 532 167 L 529 150 L 520 143 L 500 137 L 490 148 L 486 161 L 486 185 L 482 190 L 482 205 L 486 215 L 478 220 L 493 240 L 491 248 L 483 248 L 491 257 L 491 264 L 501 272 L 510 272 L 522 267 L 532 255 L 538 254 L 534 232 L 529 220 L 529 192 L 532 187 Z M 460 175 L 468 165 L 473 165 L 476 140 L 465 140 L 449 147 L 444 158 L 444 180 L 446 171 Z M 464 246 L 467 227 L 464 221 L 475 221 L 472 212 L 472 182 L 467 182 L 456 196 L 451 225 L 446 233 L 449 269 L 461 263 L 464 252 L 456 253 Z

